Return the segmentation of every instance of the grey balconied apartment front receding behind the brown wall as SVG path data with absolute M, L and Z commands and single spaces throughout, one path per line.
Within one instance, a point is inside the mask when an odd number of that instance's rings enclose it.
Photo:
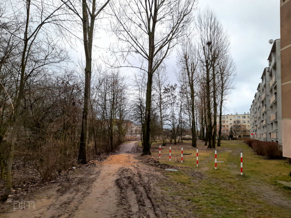
M 250 108 L 251 138 L 282 145 L 280 39 L 273 42 L 261 83 Z

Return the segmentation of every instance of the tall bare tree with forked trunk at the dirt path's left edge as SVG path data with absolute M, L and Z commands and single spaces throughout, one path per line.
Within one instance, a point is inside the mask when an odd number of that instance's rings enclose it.
M 86 147 L 88 144 L 88 113 L 90 104 L 91 74 L 92 74 L 92 46 L 95 21 L 110 0 L 105 3 L 96 0 L 66 1 L 61 0 L 69 10 L 71 10 L 82 21 L 83 45 L 85 50 L 85 89 L 84 89 L 84 109 L 82 116 L 82 128 L 80 135 L 80 148 L 78 162 L 87 163 Z

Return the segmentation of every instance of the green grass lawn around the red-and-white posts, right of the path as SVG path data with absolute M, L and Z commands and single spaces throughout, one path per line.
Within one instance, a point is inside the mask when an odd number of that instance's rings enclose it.
M 185 143 L 186 142 L 186 143 Z M 152 144 L 152 155 L 159 160 L 159 144 Z M 217 170 L 214 164 L 214 149 L 207 149 L 198 142 L 199 166 L 196 167 L 196 149 L 190 141 L 171 144 L 172 161 L 169 161 L 169 146 L 162 146 L 162 163 L 184 166 L 177 172 L 165 172 L 167 186 L 161 183 L 164 193 L 172 203 L 179 203 L 193 217 L 221 218 L 290 218 L 291 190 L 276 181 L 291 182 L 288 175 L 291 166 L 286 160 L 268 160 L 256 155 L 242 141 L 223 141 L 217 147 Z M 181 146 L 183 156 L 180 163 Z M 243 175 L 240 175 L 240 152 L 243 152 Z M 176 161 L 175 161 L 176 160 Z M 173 208 L 173 217 L 177 215 Z M 175 215 L 176 214 L 176 215 Z

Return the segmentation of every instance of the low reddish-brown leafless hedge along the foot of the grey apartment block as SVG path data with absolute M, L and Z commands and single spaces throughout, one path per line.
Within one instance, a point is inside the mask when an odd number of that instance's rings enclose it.
M 267 156 L 272 159 L 283 158 L 278 143 L 260 141 L 257 139 L 243 138 L 244 142 L 249 145 L 258 155 Z

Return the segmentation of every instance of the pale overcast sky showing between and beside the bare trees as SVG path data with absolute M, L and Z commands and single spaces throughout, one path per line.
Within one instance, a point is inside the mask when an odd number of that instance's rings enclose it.
M 228 31 L 231 54 L 237 67 L 236 88 L 232 90 L 231 100 L 226 104 L 224 113 L 248 112 L 263 70 L 268 66 L 267 58 L 272 46 L 268 41 L 280 38 L 280 1 L 200 0 L 198 9 L 204 10 L 207 5 L 215 11 L 221 24 Z M 113 36 L 102 30 L 95 36 L 94 44 L 103 48 L 114 40 Z M 103 49 L 97 50 L 94 52 L 95 59 L 105 53 Z M 75 57 L 80 57 L 82 53 L 84 53 L 82 44 L 79 44 L 77 50 L 72 51 Z M 166 60 L 166 64 L 170 83 L 176 83 L 175 52 Z M 126 76 L 133 75 L 132 69 L 122 71 Z

